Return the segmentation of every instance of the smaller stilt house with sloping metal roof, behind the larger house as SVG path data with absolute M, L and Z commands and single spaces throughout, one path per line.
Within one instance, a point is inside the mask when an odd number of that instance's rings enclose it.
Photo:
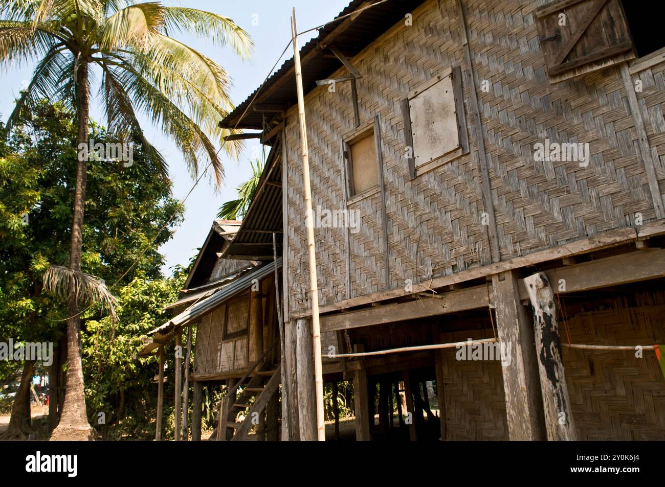
M 211 439 L 244 439 L 252 429 L 261 439 L 277 439 L 279 434 L 277 391 L 281 379 L 275 278 L 279 280 L 281 258 L 274 259 L 276 248 L 259 256 L 223 258 L 238 237 L 239 228 L 239 221 L 213 222 L 180 299 L 166 307 L 175 310 L 175 316 L 150 332 L 138 353 L 140 357 L 151 353 L 160 356 L 158 440 L 162 435 L 165 353 L 176 357 L 176 440 L 188 437 L 189 419 L 183 411 L 188 411 L 192 383 L 193 440 L 201 439 L 203 385 L 226 386 L 221 405 L 215 405 L 218 423 Z

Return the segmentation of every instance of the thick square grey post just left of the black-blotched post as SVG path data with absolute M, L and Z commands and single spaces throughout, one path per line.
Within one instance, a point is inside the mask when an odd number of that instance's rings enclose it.
M 533 349 L 533 326 L 519 298 L 519 275 L 514 270 L 492 277 L 501 372 L 511 440 L 544 440 L 545 419 L 538 365 Z M 510 347 L 510 348 L 508 348 Z

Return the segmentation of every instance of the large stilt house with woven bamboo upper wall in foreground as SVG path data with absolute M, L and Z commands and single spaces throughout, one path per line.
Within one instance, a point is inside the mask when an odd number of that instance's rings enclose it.
M 354 0 L 300 50 L 324 380 L 358 440 L 665 437 L 665 40 L 636 7 Z M 296 104 L 289 60 L 221 122 L 279 147 L 283 196 L 226 255 L 283 219 L 282 431 L 313 439 Z

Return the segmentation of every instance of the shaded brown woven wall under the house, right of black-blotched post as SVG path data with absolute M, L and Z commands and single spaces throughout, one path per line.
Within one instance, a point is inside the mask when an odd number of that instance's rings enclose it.
M 641 306 L 616 300 L 605 310 L 568 322 L 572 343 L 648 345 L 665 339 L 662 292 L 638 296 Z M 565 327 L 561 340 L 567 341 Z M 652 350 L 587 351 L 563 348 L 575 427 L 580 440 L 664 440 L 665 381 Z

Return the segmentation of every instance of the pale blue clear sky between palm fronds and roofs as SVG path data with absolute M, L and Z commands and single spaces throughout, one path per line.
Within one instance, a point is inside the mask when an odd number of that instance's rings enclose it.
M 233 78 L 233 90 L 231 98 L 235 104 L 239 104 L 251 94 L 263 82 L 269 70 L 275 64 L 277 56 L 281 54 L 289 39 L 291 39 L 291 27 L 289 17 L 291 9 L 295 7 L 298 30 L 305 31 L 331 21 L 348 5 L 350 0 L 244 0 L 231 2 L 183 0 L 163 1 L 164 5 L 180 5 L 203 9 L 220 15 L 231 17 L 235 23 L 247 31 L 255 43 L 255 52 L 249 62 L 239 60 L 230 49 L 219 49 L 196 37 L 179 35 L 175 36 L 180 41 L 198 49 L 226 68 Z M 301 47 L 317 33 L 305 34 L 299 37 Z M 280 60 L 282 62 L 293 55 L 293 48 Z M 3 121 L 13 109 L 15 98 L 21 90 L 21 84 L 30 79 L 35 62 L 25 62 L 21 66 L 15 66 L 9 72 L 2 73 L 3 94 L 0 96 L 0 114 Z M 96 88 L 92 91 L 96 92 Z M 104 123 L 96 100 L 93 100 L 90 114 L 92 118 Z M 190 191 L 194 181 L 186 169 L 180 152 L 174 144 L 162 135 L 160 130 L 145 118 L 140 117 L 146 136 L 168 161 L 170 175 L 174 181 L 174 197 L 182 199 Z M 196 253 L 196 248 L 203 244 L 205 236 L 210 229 L 212 220 L 217 215 L 217 209 L 224 201 L 235 199 L 235 187 L 249 178 L 251 169 L 249 159 L 254 153 L 262 153 L 261 146 L 256 140 L 247 141 L 247 149 L 240 161 L 225 159 L 225 182 L 221 191 L 215 191 L 204 179 L 201 179 L 198 187 L 186 202 L 185 221 L 176 231 L 174 239 L 164 244 L 160 252 L 166 256 L 164 272 L 169 274 L 169 268 L 175 264 L 186 264 L 191 256 Z M 269 149 L 269 147 L 267 147 Z M 266 149 L 266 153 L 267 153 Z

